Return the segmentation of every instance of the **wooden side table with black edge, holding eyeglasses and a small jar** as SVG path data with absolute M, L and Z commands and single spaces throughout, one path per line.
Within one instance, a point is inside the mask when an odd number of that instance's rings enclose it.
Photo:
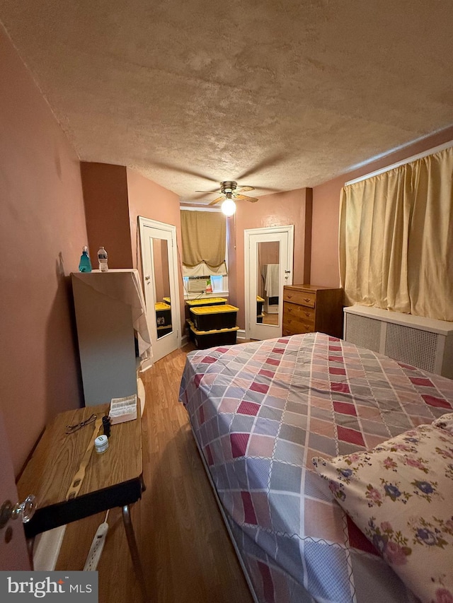
M 69 435 L 66 434 L 67 426 L 86 421 L 92 414 L 101 418 L 108 414 L 110 404 L 86 406 L 57 415 L 42 434 L 17 486 L 19 496 L 25 498 L 33 493 L 38 503 L 35 515 L 24 524 L 27 538 L 121 507 L 134 572 L 147 601 L 142 564 L 130 518 L 130 505 L 139 500 L 144 491 L 139 406 L 136 420 L 111 427 L 108 450 L 100 455 L 93 447 L 79 493 L 74 498 L 67 499 L 67 493 L 79 472 L 88 445 L 93 441 L 96 423 L 88 423 Z

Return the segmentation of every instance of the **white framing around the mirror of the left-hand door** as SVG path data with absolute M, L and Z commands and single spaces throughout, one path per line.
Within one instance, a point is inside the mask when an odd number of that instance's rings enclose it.
M 178 261 L 176 253 L 176 226 L 151 220 L 138 216 L 139 233 L 140 233 L 140 255 L 142 259 L 142 275 L 145 300 L 147 303 L 147 314 L 149 327 L 151 329 L 151 350 L 153 353 L 153 361 L 158 361 L 174 349 L 180 348 L 181 345 L 181 327 L 180 327 L 180 303 L 179 303 L 179 286 L 178 286 Z M 161 230 L 163 238 L 171 241 L 168 245 L 168 272 L 170 281 L 170 297 L 171 297 L 171 324 L 173 330 L 171 333 L 157 338 L 156 315 L 154 313 L 154 304 L 156 303 L 156 292 L 154 287 L 154 273 L 149 266 L 153 267 L 152 250 L 145 249 L 145 241 L 147 238 L 147 228 Z M 149 266 L 147 265 L 149 261 Z

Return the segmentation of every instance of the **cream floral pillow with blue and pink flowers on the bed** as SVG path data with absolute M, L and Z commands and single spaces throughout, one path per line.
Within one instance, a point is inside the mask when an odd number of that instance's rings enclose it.
M 453 603 L 453 434 L 421 425 L 313 464 L 338 503 L 421 601 Z

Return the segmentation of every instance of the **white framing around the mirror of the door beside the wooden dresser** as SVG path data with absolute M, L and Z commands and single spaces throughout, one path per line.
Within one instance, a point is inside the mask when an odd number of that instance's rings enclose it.
M 287 254 L 282 257 L 280 254 L 280 304 L 278 328 L 274 328 L 275 336 L 282 335 L 283 320 L 283 286 L 292 285 L 292 271 L 294 261 L 294 225 L 288 226 L 270 226 L 269 228 L 248 228 L 243 231 L 244 235 L 244 303 L 246 320 L 246 339 L 251 339 L 251 320 L 256 319 L 256 299 L 253 299 L 252 289 L 256 288 L 256 267 L 251 267 L 251 242 L 254 235 L 287 235 Z M 275 240 L 275 237 L 273 237 Z M 253 285 L 255 283 L 255 285 Z

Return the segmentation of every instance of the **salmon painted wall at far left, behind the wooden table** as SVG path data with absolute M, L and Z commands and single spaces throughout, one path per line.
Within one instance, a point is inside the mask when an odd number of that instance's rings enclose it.
M 0 404 L 17 475 L 81 405 L 71 271 L 86 245 L 79 158 L 0 25 Z

